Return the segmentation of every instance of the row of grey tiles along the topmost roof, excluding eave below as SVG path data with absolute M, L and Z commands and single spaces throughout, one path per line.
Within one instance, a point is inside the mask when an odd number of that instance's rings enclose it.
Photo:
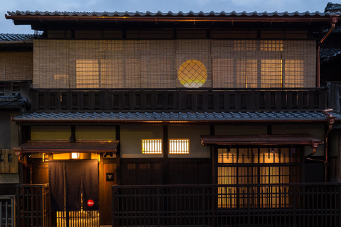
M 325 13 L 320 13 L 319 11 L 316 12 L 303 12 L 300 13 L 298 11 L 296 12 L 283 12 L 283 13 L 278 13 L 277 11 L 275 12 L 240 12 L 237 13 L 236 11 L 232 12 L 215 12 L 215 11 L 210 11 L 208 13 L 204 13 L 203 11 L 200 11 L 199 13 L 195 13 L 193 11 L 190 11 L 188 13 L 183 13 L 182 11 L 179 11 L 178 13 L 173 13 L 172 11 L 168 11 L 167 13 L 163 13 L 161 11 L 158 11 L 156 13 L 151 13 L 150 11 L 144 12 L 60 12 L 60 11 L 8 11 L 9 15 L 11 16 L 331 16 L 337 13 L 330 13 L 330 12 L 325 12 Z

